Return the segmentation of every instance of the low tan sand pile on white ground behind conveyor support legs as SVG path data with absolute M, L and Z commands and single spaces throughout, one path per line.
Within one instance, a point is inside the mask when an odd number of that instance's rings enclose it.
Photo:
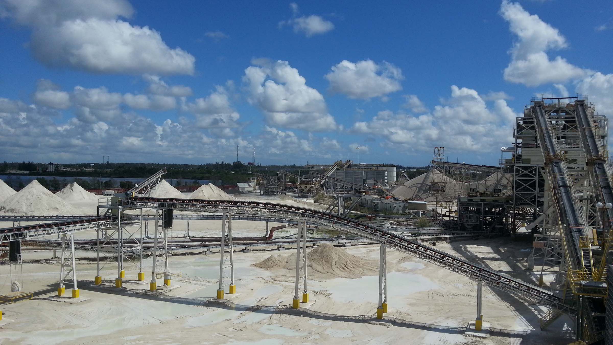
M 271 255 L 253 266 L 264 269 L 296 269 L 296 254 Z M 346 252 L 345 249 L 337 248 L 332 244 L 325 243 L 307 253 L 308 274 L 320 278 L 352 278 L 372 275 L 378 272 L 378 264 L 375 260 L 367 260 L 356 257 Z

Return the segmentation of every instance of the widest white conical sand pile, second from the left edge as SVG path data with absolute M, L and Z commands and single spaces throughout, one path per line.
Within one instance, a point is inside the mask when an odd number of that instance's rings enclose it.
M 0 204 L 2 214 L 78 214 L 66 201 L 51 193 L 47 188 L 32 180 L 18 193 Z

